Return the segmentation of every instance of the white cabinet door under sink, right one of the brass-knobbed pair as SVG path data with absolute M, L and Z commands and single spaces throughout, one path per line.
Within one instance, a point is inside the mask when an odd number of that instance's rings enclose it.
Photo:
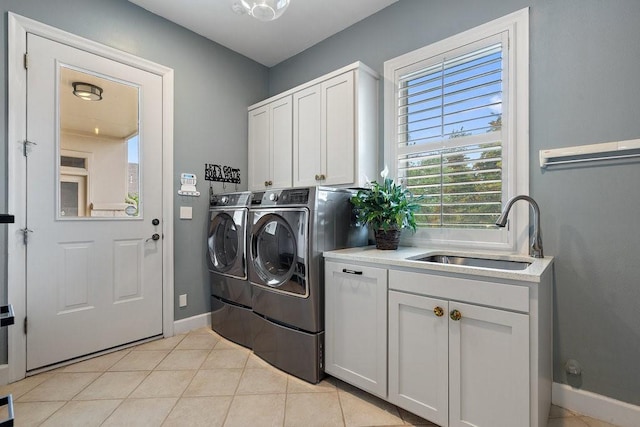
M 449 311 L 449 425 L 529 425 L 529 316 L 459 302 Z

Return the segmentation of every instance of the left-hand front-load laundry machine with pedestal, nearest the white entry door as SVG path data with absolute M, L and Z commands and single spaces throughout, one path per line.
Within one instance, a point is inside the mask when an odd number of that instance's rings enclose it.
M 207 236 L 211 327 L 249 348 L 252 315 L 246 246 L 250 201 L 248 191 L 211 196 Z

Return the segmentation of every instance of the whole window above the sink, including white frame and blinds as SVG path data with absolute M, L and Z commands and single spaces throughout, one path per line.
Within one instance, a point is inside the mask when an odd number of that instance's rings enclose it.
M 528 252 L 528 8 L 384 63 L 390 177 L 422 195 L 411 246 Z

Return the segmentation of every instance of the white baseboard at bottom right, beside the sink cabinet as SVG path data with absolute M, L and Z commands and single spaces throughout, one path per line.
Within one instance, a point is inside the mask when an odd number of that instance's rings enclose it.
M 640 406 L 573 388 L 567 384 L 553 383 L 551 401 L 554 405 L 616 426 L 640 426 Z

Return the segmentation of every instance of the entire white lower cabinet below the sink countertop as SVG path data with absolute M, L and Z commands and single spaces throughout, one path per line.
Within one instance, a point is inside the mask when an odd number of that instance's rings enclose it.
M 547 425 L 550 269 L 512 281 L 372 264 L 326 261 L 327 373 L 441 427 Z

